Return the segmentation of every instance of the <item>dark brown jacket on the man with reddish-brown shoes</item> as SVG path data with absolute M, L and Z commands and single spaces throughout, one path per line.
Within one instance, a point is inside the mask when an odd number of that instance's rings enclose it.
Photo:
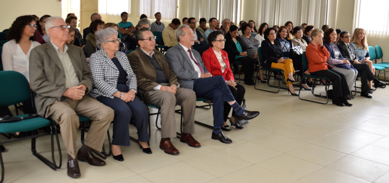
M 177 75 L 170 68 L 166 62 L 163 54 L 157 50 L 154 50 L 154 58 L 157 60 L 159 67 L 165 73 L 166 78 L 169 80 L 169 84 L 179 84 Z M 157 83 L 157 71 L 147 58 L 147 55 L 141 50 L 137 49 L 127 55 L 130 65 L 138 80 L 138 88 L 143 91 L 154 91 L 154 87 L 158 86 Z

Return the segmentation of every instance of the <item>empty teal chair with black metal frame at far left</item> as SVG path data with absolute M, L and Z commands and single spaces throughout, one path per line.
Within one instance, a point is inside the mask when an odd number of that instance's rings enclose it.
M 8 107 L 26 100 L 33 100 L 31 96 L 30 85 L 27 79 L 19 72 L 16 71 L 0 71 L 0 106 Z M 15 117 L 27 117 L 31 114 L 18 115 Z M 48 133 L 38 133 L 37 130 L 43 127 L 50 127 L 50 132 Z M 31 151 L 39 160 L 45 163 L 47 166 L 51 167 L 53 170 L 60 168 L 62 165 L 62 154 L 61 147 L 59 145 L 58 133 L 55 127 L 55 122 L 45 119 L 43 117 L 34 117 L 29 119 L 23 119 L 15 122 L 3 122 L 0 123 L 0 133 L 9 134 L 16 132 L 30 132 L 31 135 L 25 137 L 16 137 L 7 140 L 1 140 L 0 145 L 11 143 L 15 141 L 20 141 L 24 139 L 31 139 Z M 51 135 L 51 158 L 52 160 L 43 157 L 36 151 L 36 138 L 44 135 Z M 57 143 L 58 153 L 59 153 L 59 165 L 56 165 L 54 158 L 54 136 Z M 9 152 L 11 153 L 11 152 Z M 14 152 L 18 153 L 18 152 Z M 1 181 L 4 181 L 4 162 L 2 154 L 0 151 L 0 162 L 1 162 Z M 38 166 L 38 165 L 37 165 Z M 23 168 L 15 169 L 14 171 L 19 171 L 20 174 L 23 174 Z

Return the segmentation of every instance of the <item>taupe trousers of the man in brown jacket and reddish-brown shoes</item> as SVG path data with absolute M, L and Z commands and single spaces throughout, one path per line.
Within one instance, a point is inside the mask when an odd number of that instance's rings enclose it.
M 167 85 L 167 83 L 160 84 Z M 176 104 L 182 108 L 182 132 L 195 133 L 196 94 L 193 90 L 179 87 L 176 95 L 168 91 L 145 91 L 144 97 L 147 103 L 161 108 L 162 138 L 176 137 Z

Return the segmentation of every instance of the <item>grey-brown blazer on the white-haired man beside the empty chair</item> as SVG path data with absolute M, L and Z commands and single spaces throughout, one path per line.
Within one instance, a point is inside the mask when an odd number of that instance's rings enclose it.
M 86 95 L 92 90 L 93 79 L 85 59 L 84 52 L 75 46 L 68 45 L 68 54 L 80 84 L 88 88 Z M 61 101 L 65 87 L 65 72 L 61 61 L 51 42 L 39 45 L 30 53 L 30 83 L 35 91 L 36 110 L 45 116 L 47 106 L 55 100 Z M 93 96 L 91 96 L 93 98 Z

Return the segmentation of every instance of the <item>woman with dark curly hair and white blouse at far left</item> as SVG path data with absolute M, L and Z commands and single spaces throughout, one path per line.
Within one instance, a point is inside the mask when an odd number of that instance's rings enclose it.
M 36 42 L 36 23 L 32 16 L 16 18 L 8 31 L 8 42 L 3 45 L 1 59 L 4 70 L 14 70 L 23 74 L 30 82 L 28 73 L 30 52 L 40 45 Z M 32 114 L 32 102 L 23 102 L 25 114 Z

